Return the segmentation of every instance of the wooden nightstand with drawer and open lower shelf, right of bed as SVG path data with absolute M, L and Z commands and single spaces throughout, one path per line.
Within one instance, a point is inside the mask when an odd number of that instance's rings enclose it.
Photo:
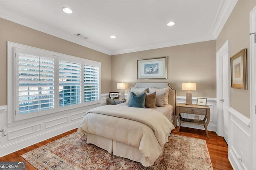
M 195 114 L 195 115 L 204 115 L 204 120 L 200 120 L 200 122 L 196 123 L 194 119 L 189 119 L 190 121 L 184 121 L 182 120 L 182 117 L 180 113 L 188 113 L 188 114 Z M 176 115 L 177 119 L 179 121 L 179 129 L 178 132 L 180 131 L 180 125 L 181 123 L 190 123 L 190 124 L 195 124 L 195 125 L 203 125 L 206 135 L 208 138 L 208 131 L 207 131 L 207 126 L 210 122 L 210 108 L 209 106 L 198 106 L 196 104 L 193 105 L 186 105 L 186 104 L 177 104 L 176 106 Z

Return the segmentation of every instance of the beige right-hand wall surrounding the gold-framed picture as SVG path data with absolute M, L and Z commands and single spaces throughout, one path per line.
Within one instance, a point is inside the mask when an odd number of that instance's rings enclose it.
M 256 0 L 239 0 L 226 24 L 216 39 L 216 52 L 230 39 L 231 57 L 247 48 L 248 90 L 231 88 L 230 106 L 250 118 L 250 11 L 256 6 Z

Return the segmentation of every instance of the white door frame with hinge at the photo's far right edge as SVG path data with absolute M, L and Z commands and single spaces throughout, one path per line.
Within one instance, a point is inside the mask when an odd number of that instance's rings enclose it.
M 256 32 L 256 7 L 250 12 L 250 33 Z M 256 167 L 256 49 L 254 35 L 250 35 L 250 120 L 251 120 L 251 168 Z

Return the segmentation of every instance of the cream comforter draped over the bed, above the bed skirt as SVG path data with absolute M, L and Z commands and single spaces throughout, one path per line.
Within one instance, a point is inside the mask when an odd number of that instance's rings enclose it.
M 158 111 L 107 105 L 91 109 L 78 127 L 78 134 L 92 133 L 131 145 L 148 159 L 156 160 L 174 125 Z

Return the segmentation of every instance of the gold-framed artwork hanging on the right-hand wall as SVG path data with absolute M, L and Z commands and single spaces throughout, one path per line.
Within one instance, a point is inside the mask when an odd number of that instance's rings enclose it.
M 247 49 L 242 49 L 230 58 L 231 87 L 247 89 Z

